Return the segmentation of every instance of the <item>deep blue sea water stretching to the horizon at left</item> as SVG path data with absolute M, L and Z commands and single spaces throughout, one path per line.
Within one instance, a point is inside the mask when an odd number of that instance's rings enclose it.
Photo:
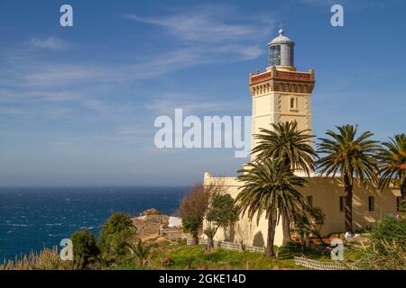
M 97 235 L 115 211 L 170 215 L 189 187 L 0 187 L 0 262 L 60 244 L 78 229 Z

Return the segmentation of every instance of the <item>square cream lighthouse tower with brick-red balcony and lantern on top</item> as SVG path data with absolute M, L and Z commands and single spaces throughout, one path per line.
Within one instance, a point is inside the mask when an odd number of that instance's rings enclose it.
M 261 128 L 270 123 L 297 121 L 298 129 L 312 130 L 310 95 L 315 85 L 314 70 L 298 72 L 294 66 L 295 43 L 279 35 L 268 43 L 269 66 L 265 72 L 250 74 L 249 89 L 253 96 L 253 140 Z

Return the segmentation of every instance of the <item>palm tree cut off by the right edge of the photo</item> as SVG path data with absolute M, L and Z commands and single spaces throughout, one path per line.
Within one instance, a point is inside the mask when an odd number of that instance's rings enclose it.
M 378 158 L 380 162 L 380 188 L 389 187 L 392 180 L 398 180 L 397 185 L 401 189 L 401 204 L 406 204 L 406 135 L 398 134 L 390 138 L 389 142 L 382 143 L 382 149 Z M 397 181 L 394 181 L 396 184 Z

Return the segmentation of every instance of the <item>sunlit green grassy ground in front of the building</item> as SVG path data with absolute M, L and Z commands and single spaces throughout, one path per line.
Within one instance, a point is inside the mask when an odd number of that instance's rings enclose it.
M 304 252 L 306 257 L 319 261 L 330 261 L 328 256 L 316 252 Z M 161 259 L 171 258 L 171 266 L 162 266 Z M 129 259 L 114 269 L 142 269 L 134 259 Z M 161 243 L 152 253 L 144 269 L 174 269 L 174 270 L 272 270 L 272 269 L 304 269 L 296 266 L 293 259 L 275 259 L 263 257 L 259 253 L 238 252 L 216 248 L 211 252 L 204 251 L 204 246 L 188 247 L 185 244 Z

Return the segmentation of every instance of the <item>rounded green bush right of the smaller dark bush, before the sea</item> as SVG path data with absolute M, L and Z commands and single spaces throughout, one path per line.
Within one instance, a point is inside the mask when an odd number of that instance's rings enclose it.
M 110 258 L 124 257 L 127 249 L 125 242 L 135 238 L 136 229 L 130 216 L 123 213 L 114 213 L 106 220 L 100 231 L 98 247 L 102 257 Z

